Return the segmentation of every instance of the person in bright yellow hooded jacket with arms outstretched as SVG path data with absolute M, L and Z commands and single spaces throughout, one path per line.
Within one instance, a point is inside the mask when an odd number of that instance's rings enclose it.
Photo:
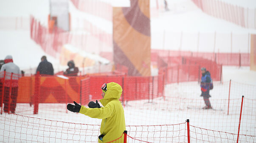
M 104 107 L 101 107 L 96 100 L 96 103 L 91 101 L 89 103 L 90 108 L 86 108 L 83 105 L 68 104 L 67 108 L 72 112 L 79 112 L 92 118 L 102 119 L 101 121 L 101 135 L 98 138 L 98 143 L 107 143 L 120 138 L 123 135 L 125 129 L 124 109 L 119 101 L 122 94 L 122 87 L 115 83 L 110 82 L 103 84 L 101 87 L 103 99 L 100 100 Z M 122 138 L 116 140 L 117 143 L 124 142 L 124 135 Z

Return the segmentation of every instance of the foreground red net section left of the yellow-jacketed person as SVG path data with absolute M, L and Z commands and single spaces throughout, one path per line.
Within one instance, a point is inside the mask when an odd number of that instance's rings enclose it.
M 0 124 L 0 141 L 4 143 L 98 143 L 100 128 L 100 125 L 75 124 L 7 113 L 0 116 Z

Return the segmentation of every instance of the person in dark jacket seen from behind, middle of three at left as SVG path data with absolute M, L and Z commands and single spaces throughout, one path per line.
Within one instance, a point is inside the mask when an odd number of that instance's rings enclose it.
M 37 71 L 41 75 L 53 75 L 53 65 L 51 62 L 48 62 L 45 56 L 42 56 L 41 61 L 37 67 Z

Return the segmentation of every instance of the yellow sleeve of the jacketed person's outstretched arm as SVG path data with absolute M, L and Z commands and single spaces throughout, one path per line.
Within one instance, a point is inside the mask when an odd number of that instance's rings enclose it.
M 111 103 L 101 108 L 86 108 L 82 105 L 79 113 L 82 113 L 91 118 L 105 119 L 112 115 L 113 109 L 114 107 Z

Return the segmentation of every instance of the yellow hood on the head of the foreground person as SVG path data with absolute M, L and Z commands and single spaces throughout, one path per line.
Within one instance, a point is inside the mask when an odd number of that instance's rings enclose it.
M 111 100 L 119 100 L 122 94 L 122 87 L 115 83 L 110 82 L 107 84 L 107 92 L 105 93 L 105 96 L 103 99 L 100 100 L 101 104 L 103 106 L 106 106 L 107 103 L 109 103 Z

